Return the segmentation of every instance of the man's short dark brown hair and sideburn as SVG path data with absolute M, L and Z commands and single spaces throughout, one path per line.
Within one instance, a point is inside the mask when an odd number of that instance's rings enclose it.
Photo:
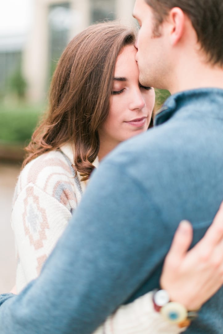
M 179 7 L 190 18 L 201 48 L 212 64 L 223 65 L 222 0 L 145 0 L 154 11 L 154 35 L 169 10 Z

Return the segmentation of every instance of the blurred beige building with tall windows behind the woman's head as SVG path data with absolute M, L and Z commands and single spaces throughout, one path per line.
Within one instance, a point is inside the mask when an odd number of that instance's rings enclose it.
M 117 18 L 130 21 L 135 0 L 33 1 L 33 20 L 28 38 L 25 45 L 21 42 L 13 52 L 18 51 L 19 61 L 22 49 L 26 95 L 30 102 L 36 103 L 46 100 L 52 73 L 69 40 L 96 21 Z M 6 76 L 7 73 L 5 80 Z

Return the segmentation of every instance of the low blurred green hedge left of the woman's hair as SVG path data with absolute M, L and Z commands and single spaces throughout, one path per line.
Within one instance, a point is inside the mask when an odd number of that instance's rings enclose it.
M 0 142 L 25 146 L 41 116 L 41 107 L 0 104 Z

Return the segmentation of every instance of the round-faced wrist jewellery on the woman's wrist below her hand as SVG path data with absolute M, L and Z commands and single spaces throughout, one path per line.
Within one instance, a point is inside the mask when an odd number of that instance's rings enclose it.
M 197 311 L 188 311 L 182 304 L 171 302 L 166 290 L 154 290 L 153 305 L 165 320 L 180 328 L 189 326 L 198 317 Z

